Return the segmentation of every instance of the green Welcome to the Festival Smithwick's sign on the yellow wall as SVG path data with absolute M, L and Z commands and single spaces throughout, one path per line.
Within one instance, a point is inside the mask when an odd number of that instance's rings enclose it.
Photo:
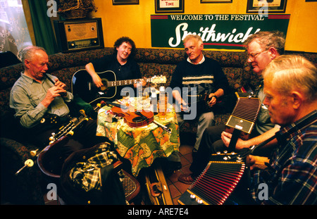
M 196 34 L 205 49 L 243 49 L 243 42 L 259 31 L 286 35 L 289 14 L 151 15 L 151 46 L 183 48 L 182 39 Z

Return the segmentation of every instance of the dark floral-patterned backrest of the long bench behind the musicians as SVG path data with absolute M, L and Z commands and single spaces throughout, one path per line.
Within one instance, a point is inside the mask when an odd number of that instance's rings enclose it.
M 49 56 L 48 73 L 56 75 L 61 81 L 65 82 L 68 91 L 71 90 L 71 80 L 73 74 L 90 61 L 101 58 L 102 56 L 112 54 L 113 48 L 93 49 L 87 51 L 77 51 L 73 53 L 58 53 Z M 294 54 L 294 52 L 287 52 Z M 298 54 L 298 53 L 297 53 Z M 228 77 L 230 87 L 239 90 L 242 86 L 249 84 L 256 86 L 259 84 L 259 76 L 255 75 L 247 63 L 246 52 L 240 51 L 204 51 L 204 55 L 213 58 L 223 68 Z M 301 53 L 313 63 L 317 63 L 317 55 Z M 176 65 L 185 60 L 184 49 L 144 49 L 139 48 L 135 54 L 135 60 L 139 63 L 141 73 L 144 77 L 153 77 L 154 75 L 164 75 L 167 78 L 166 86 L 169 86 L 173 71 Z M 1 117 L 10 110 L 9 95 L 14 82 L 20 77 L 23 71 L 23 64 L 11 65 L 0 69 L 0 106 Z M 223 123 L 227 120 L 228 114 L 217 115 L 216 123 Z M 185 127 L 186 129 L 186 127 Z M 188 130 L 190 130 L 190 125 Z M 192 130 L 194 132 L 194 130 Z

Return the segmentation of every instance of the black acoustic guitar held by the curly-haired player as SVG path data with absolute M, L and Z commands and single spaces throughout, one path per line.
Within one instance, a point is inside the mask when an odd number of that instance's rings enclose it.
M 86 70 L 77 70 L 72 78 L 72 93 L 77 94 L 87 103 L 92 103 L 97 99 L 113 99 L 117 95 L 118 86 L 134 85 L 140 82 L 141 79 L 116 80 L 116 74 L 111 70 L 106 70 L 102 73 L 97 73 L 103 83 L 102 87 L 97 87 L 92 81 L 92 77 Z M 146 82 L 154 84 L 165 84 L 165 76 L 154 76 L 145 78 Z

